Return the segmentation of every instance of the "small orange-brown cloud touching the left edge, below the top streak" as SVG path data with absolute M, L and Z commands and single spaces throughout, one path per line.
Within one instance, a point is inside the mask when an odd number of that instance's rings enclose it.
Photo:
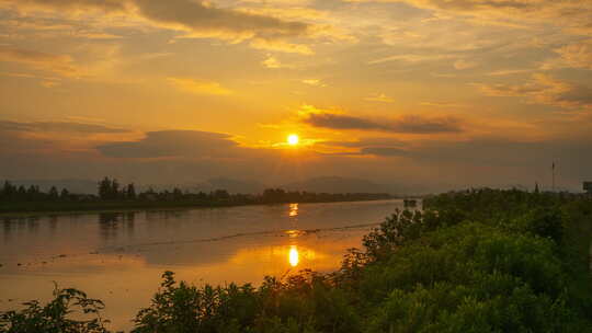
M 62 77 L 77 77 L 72 58 L 67 55 L 53 55 L 30 49 L 0 46 L 0 61 L 18 62 L 30 68 L 54 72 Z

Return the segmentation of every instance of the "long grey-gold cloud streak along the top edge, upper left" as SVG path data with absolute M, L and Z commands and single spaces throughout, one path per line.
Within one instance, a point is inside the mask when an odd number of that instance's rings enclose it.
M 286 21 L 271 15 L 219 8 L 198 0 L 0 0 L 14 8 L 42 8 L 64 12 L 86 9 L 116 12 L 140 18 L 149 23 L 186 34 L 183 37 L 220 38 L 232 42 L 251 39 L 254 48 L 312 54 L 306 45 L 285 42 L 286 38 L 311 37 L 308 23 Z M 102 35 L 101 37 L 105 37 Z

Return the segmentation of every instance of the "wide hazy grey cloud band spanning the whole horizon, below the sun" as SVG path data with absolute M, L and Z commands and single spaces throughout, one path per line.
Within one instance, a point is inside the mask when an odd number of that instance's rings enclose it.
M 139 139 L 117 136 L 117 141 L 91 142 L 92 149 L 84 150 L 59 149 L 54 136 L 39 138 L 22 134 L 0 127 L 0 141 L 10 142 L 0 145 L 3 161 L 0 173 L 8 179 L 112 175 L 125 182 L 179 184 L 238 176 L 278 185 L 285 184 L 286 179 L 333 174 L 369 176 L 384 184 L 422 183 L 430 188 L 445 182 L 441 190 L 449 190 L 452 186 L 540 183 L 545 176 L 548 179 L 547 165 L 555 160 L 558 183 L 579 190 L 581 180 L 592 168 L 592 158 L 584 153 L 592 150 L 592 141 L 585 133 L 580 140 L 560 137 L 527 142 L 500 138 L 447 141 L 426 137 L 400 141 L 395 136 L 369 137 L 319 142 L 346 147 L 351 152 L 317 153 L 312 159 L 307 158 L 306 150 L 293 156 L 283 154 L 285 151 L 280 149 L 246 148 L 230 135 L 196 130 L 150 131 Z M 71 136 L 70 140 L 75 137 L 80 135 Z M 387 160 L 390 158 L 397 161 Z

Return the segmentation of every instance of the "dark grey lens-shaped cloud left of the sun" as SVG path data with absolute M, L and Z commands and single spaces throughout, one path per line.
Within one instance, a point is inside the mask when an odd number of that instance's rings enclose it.
M 239 146 L 229 135 L 197 130 L 149 131 L 139 141 L 105 143 L 96 147 L 110 158 L 225 158 L 238 153 Z

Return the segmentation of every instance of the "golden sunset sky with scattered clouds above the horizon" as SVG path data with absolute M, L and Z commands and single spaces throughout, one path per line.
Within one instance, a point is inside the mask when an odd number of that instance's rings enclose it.
M 579 191 L 591 73 L 591 1 L 0 0 L 0 179 Z

